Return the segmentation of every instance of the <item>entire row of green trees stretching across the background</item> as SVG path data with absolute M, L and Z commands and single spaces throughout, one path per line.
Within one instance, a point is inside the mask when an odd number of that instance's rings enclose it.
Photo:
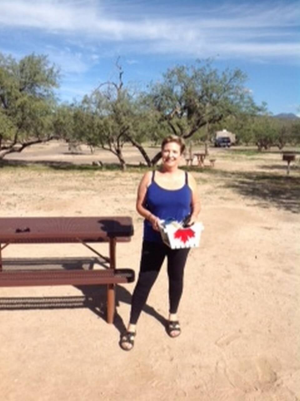
M 239 69 L 220 72 L 210 61 L 179 65 L 140 92 L 124 86 L 118 61 L 116 68 L 117 82 L 102 83 L 80 103 L 59 105 L 54 97 L 59 71 L 46 56 L 16 61 L 0 54 L 0 158 L 63 138 L 72 148 L 84 143 L 92 151 L 112 152 L 122 168 L 127 142 L 152 166 L 160 152 L 151 159 L 145 142 L 157 145 L 170 133 L 207 142 L 223 128 L 236 134 L 237 143 L 255 143 L 259 150 L 300 143 L 300 123 L 276 120 L 266 104 L 257 106 Z

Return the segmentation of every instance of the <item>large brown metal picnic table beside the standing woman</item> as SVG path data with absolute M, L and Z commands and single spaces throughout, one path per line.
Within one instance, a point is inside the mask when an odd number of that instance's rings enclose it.
M 0 287 L 107 285 L 107 322 L 115 310 L 115 285 L 134 281 L 134 270 L 116 268 L 116 244 L 130 241 L 132 219 L 113 217 L 0 217 Z M 90 243 L 107 242 L 109 256 Z M 3 249 L 10 244 L 80 243 L 108 262 L 108 269 L 22 269 L 4 268 Z M 34 258 L 32 258 L 34 261 Z

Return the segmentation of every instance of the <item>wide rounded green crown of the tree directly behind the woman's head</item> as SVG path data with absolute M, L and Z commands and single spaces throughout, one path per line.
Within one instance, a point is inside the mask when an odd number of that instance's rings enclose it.
M 172 133 L 190 138 L 206 124 L 260 110 L 244 87 L 245 80 L 246 75 L 239 69 L 219 73 L 210 61 L 178 66 L 169 69 L 162 82 L 150 86 L 148 99 Z

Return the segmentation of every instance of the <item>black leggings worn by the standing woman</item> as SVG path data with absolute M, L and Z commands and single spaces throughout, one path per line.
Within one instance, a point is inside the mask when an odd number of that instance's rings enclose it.
M 177 312 L 183 289 L 184 266 L 189 250 L 189 248 L 170 249 L 164 243 L 143 242 L 140 273 L 132 295 L 131 324 L 136 324 L 138 321 L 165 257 L 168 259 L 169 312 Z

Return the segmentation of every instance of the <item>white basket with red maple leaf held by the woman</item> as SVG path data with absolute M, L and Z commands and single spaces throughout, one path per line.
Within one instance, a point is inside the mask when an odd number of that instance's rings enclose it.
M 182 227 L 177 221 L 165 224 L 161 220 L 159 229 L 162 241 L 171 249 L 179 249 L 198 247 L 204 226 L 196 222 L 190 227 Z

